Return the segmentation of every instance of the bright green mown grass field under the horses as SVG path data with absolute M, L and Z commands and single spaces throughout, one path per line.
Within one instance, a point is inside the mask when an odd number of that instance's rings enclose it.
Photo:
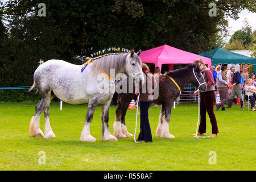
M 216 111 L 220 134 L 197 139 L 197 105 L 177 105 L 172 109 L 170 133 L 175 139 L 155 137 L 160 107 L 150 107 L 152 143 L 101 141 L 101 107 L 95 113 L 90 133 L 95 143 L 80 142 L 87 105 L 50 106 L 50 122 L 55 139 L 30 137 L 29 122 L 36 102 L 0 103 L 1 170 L 255 170 L 256 112 L 233 105 L 227 112 Z M 109 111 L 110 132 L 116 106 Z M 134 134 L 135 110 L 127 111 L 127 129 Z M 211 134 L 209 118 L 207 135 Z M 41 115 L 40 128 L 44 129 Z M 139 133 L 139 121 L 137 136 Z M 46 164 L 38 164 L 39 151 L 46 152 Z M 217 164 L 209 164 L 209 152 L 217 154 Z

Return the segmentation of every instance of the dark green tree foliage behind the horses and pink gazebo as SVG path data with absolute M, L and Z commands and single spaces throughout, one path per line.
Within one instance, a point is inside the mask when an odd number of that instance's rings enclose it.
M 7 1 L 0 10 L 9 22 L 0 22 L 0 86 L 32 85 L 39 59 L 81 64 L 102 48 L 208 51 L 224 44 L 225 14 L 236 19 L 242 9 L 256 11 L 254 1 L 46 0 L 46 17 L 39 17 L 40 2 Z M 211 2 L 216 17 L 208 15 Z

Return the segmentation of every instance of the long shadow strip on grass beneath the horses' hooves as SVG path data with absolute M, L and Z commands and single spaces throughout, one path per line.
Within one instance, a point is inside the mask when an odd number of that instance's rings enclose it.
M 189 146 L 194 146 L 202 143 L 205 140 L 209 139 L 196 139 L 193 137 L 181 137 L 175 139 L 167 139 L 154 137 L 153 142 L 138 142 L 135 143 L 132 138 L 118 139 L 118 142 L 108 142 L 102 141 L 100 139 L 96 140 L 96 142 L 81 142 L 79 138 L 77 139 L 44 139 L 44 138 L 36 138 L 36 137 L 25 137 L 19 139 L 22 142 L 27 143 L 30 146 L 51 146 L 51 147 L 61 147 L 61 146 L 74 146 L 74 147 L 88 147 L 94 149 L 105 149 L 105 150 L 134 150 L 136 148 L 141 147 L 162 147 L 162 146 L 170 146 L 170 147 L 179 147 L 183 146 L 185 143 Z

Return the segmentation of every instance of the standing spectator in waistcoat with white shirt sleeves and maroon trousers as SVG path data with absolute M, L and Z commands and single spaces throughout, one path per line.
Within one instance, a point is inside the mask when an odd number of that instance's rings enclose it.
M 221 103 L 216 105 L 217 110 L 221 107 L 223 111 L 226 111 L 224 104 L 229 100 L 229 80 L 227 72 L 228 67 L 222 66 L 221 72 L 218 75 L 218 89 L 220 92 Z

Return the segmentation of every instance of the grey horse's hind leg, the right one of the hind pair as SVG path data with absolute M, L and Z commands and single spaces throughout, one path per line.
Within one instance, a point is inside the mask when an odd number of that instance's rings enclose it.
M 44 138 L 51 139 L 55 138 L 55 134 L 52 131 L 51 125 L 49 123 L 49 104 L 52 100 L 51 91 L 48 91 L 46 97 L 43 99 L 44 101 L 44 119 L 46 119 L 46 126 L 44 126 Z

